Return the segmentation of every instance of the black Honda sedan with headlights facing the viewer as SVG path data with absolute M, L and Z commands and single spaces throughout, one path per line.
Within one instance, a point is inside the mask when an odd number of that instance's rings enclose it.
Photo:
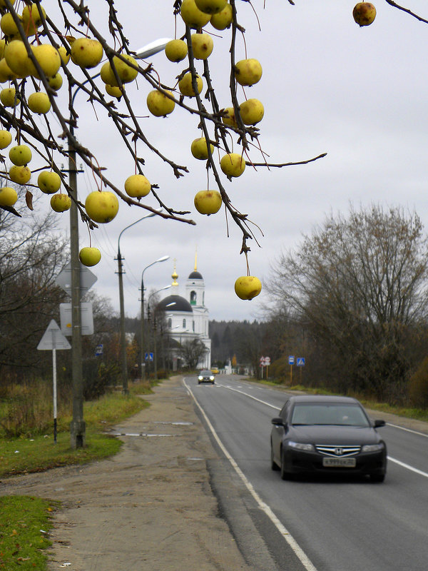
M 387 446 L 355 398 L 291 396 L 272 418 L 270 463 L 282 480 L 294 474 L 369 475 L 383 482 Z

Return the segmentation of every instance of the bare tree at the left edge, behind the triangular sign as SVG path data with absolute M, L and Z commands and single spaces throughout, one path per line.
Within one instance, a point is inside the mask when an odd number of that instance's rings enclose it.
M 37 343 L 65 295 L 54 281 L 67 251 L 49 216 L 27 216 L 23 225 L 0 210 L 0 369 L 39 362 Z

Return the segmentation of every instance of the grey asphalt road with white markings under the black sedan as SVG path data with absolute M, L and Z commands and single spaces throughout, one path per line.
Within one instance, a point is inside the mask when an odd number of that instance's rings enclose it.
M 379 429 L 389 457 L 382 484 L 344 478 L 284 482 L 269 460 L 270 419 L 285 402 L 283 391 L 225 375 L 215 385 L 198 385 L 196 378 L 185 384 L 225 458 L 223 470 L 230 482 L 241 482 L 245 513 L 228 506 L 227 493 L 223 505 L 243 550 L 258 557 L 253 525 L 277 570 L 427 570 L 427 434 L 392 424 Z M 222 477 L 220 496 L 227 487 Z

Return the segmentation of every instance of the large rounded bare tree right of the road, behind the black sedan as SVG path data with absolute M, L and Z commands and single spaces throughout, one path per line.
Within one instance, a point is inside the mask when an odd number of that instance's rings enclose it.
M 267 288 L 322 348 L 342 390 L 393 398 L 428 309 L 428 247 L 401 208 L 329 216 L 272 266 Z M 412 339 L 412 343 L 409 343 Z M 325 375 L 325 376 L 327 376 Z

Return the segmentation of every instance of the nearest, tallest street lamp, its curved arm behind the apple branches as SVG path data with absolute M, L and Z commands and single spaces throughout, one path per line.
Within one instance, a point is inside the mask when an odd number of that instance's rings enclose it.
M 137 59 L 153 56 L 165 49 L 168 39 L 162 38 L 140 48 L 136 53 Z M 100 74 L 96 74 L 98 77 Z M 93 79 L 93 78 L 91 78 Z M 83 81 L 83 84 L 86 84 Z M 82 85 L 83 85 L 82 84 Z M 81 89 L 77 86 L 70 101 L 70 122 L 68 135 L 68 186 L 70 187 L 70 258 L 71 258 L 71 375 L 73 380 L 73 419 L 70 424 L 71 448 L 83 448 L 86 439 L 86 426 L 83 420 L 83 372 L 82 372 L 82 333 L 81 333 L 81 301 L 80 301 L 80 260 L 78 258 L 78 208 L 77 208 L 77 173 L 76 146 L 74 144 L 74 99 Z

